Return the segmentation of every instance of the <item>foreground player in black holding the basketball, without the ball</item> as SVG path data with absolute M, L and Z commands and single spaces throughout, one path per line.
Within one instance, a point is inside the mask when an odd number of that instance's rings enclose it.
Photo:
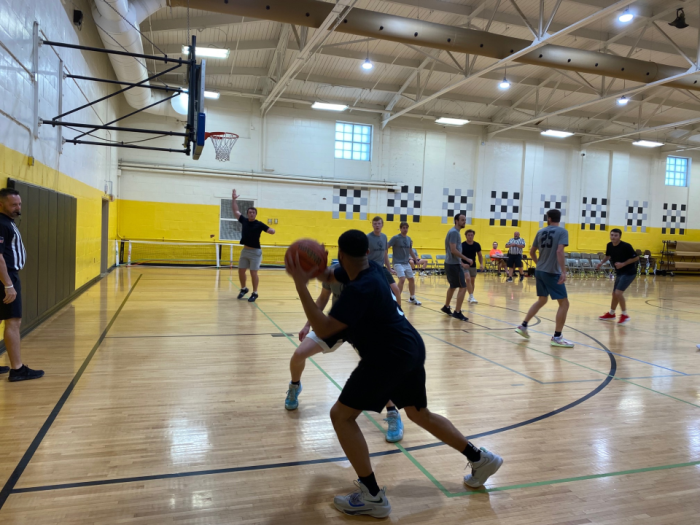
M 324 280 L 344 284 L 340 298 L 325 315 L 307 289 L 315 271 L 307 272 L 298 257 L 287 266 L 296 285 L 304 313 L 314 332 L 322 338 L 347 337 L 361 361 L 331 409 L 331 421 L 340 445 L 359 479 L 358 490 L 336 496 L 338 510 L 349 515 L 384 518 L 391 512 L 386 488 L 380 489 L 372 471 L 367 442 L 357 424 L 363 410 L 379 412 L 391 399 L 421 428 L 467 457 L 469 487 L 479 487 L 496 473 L 503 459 L 467 441 L 446 418 L 431 412 L 425 390 L 425 345 L 391 297 L 382 269 L 367 260 L 367 236 L 358 230 L 338 239 L 341 268 L 326 270 Z M 458 266 L 459 269 L 459 266 Z

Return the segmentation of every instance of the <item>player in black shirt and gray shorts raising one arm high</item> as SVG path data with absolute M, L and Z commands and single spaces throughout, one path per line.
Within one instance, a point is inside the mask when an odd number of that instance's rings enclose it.
M 253 281 L 253 293 L 248 298 L 248 302 L 254 303 L 258 298 L 258 283 L 260 282 L 258 270 L 262 262 L 260 234 L 265 232 L 274 235 L 275 230 L 270 228 L 267 224 L 255 219 L 258 216 L 257 208 L 253 208 L 252 206 L 248 208 L 248 210 L 246 210 L 247 217 L 244 217 L 238 210 L 236 199 L 238 199 L 238 194 L 234 189 L 231 194 L 231 209 L 233 210 L 233 216 L 241 223 L 241 228 L 243 230 L 241 235 L 243 249 L 241 250 L 241 256 L 238 261 L 238 280 L 241 283 L 241 291 L 238 294 L 238 299 L 243 299 L 249 292 L 248 288 L 246 288 L 245 271 L 250 270 L 250 279 Z

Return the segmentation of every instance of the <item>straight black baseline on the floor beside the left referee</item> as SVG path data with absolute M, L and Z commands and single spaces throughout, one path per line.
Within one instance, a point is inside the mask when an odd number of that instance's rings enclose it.
M 139 275 L 139 277 L 136 279 L 136 282 L 134 282 L 134 284 L 129 289 L 129 292 L 126 294 L 126 297 L 124 297 L 124 300 L 122 301 L 121 305 L 119 306 L 117 311 L 114 312 L 114 315 L 112 316 L 112 319 L 109 321 L 109 324 L 105 327 L 105 329 L 100 334 L 100 337 L 97 339 L 97 342 L 92 347 L 92 350 L 90 350 L 90 353 L 88 353 L 88 355 L 83 360 L 82 366 L 78 369 L 78 371 L 73 376 L 73 379 L 66 387 L 66 390 L 63 392 L 63 395 L 56 402 L 56 405 L 53 407 L 53 410 L 51 411 L 49 416 L 46 418 L 46 421 L 44 421 L 44 424 L 39 429 L 39 432 L 37 433 L 36 437 L 32 440 L 31 444 L 29 445 L 29 448 L 27 448 L 27 451 L 22 456 L 22 459 L 20 459 L 19 463 L 15 467 L 15 470 L 12 472 L 12 474 L 10 474 L 10 477 L 8 478 L 7 482 L 5 482 L 5 485 L 3 486 L 2 490 L 0 490 L 0 510 L 2 510 L 2 507 L 3 507 L 3 505 L 5 505 L 7 498 L 10 497 L 10 494 L 13 493 L 15 486 L 17 485 L 17 483 L 19 482 L 19 479 L 22 477 L 22 474 L 24 473 L 25 469 L 27 468 L 27 465 L 29 465 L 29 462 L 32 460 L 32 457 L 34 457 L 34 453 L 37 451 L 37 449 L 41 445 L 41 442 L 44 440 L 44 437 L 46 437 L 46 434 L 51 429 L 51 425 L 53 425 L 53 422 L 58 417 L 58 414 L 61 412 L 61 409 L 66 404 L 66 401 L 68 401 L 68 398 L 70 397 L 71 393 L 73 392 L 75 385 L 77 385 L 78 381 L 80 381 L 80 378 L 83 376 L 83 372 L 85 372 L 88 365 L 90 364 L 90 361 L 92 361 L 92 358 L 95 355 L 95 353 L 97 352 L 97 349 L 102 345 L 102 342 L 105 340 L 105 337 L 107 336 L 107 332 L 109 332 L 110 328 L 112 328 L 112 325 L 117 320 L 117 317 L 119 317 L 119 314 L 121 313 L 122 309 L 126 305 L 126 302 L 129 300 L 129 297 L 131 297 L 131 294 L 134 291 L 134 288 L 136 288 L 136 285 L 139 283 L 140 280 L 141 280 L 141 275 Z

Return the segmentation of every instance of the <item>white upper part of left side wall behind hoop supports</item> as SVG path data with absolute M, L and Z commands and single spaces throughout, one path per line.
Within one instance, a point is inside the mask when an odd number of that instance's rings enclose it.
M 78 32 L 72 24 L 74 6 L 85 14 L 82 32 Z M 23 127 L 32 129 L 36 114 L 43 119 L 52 119 L 58 115 L 59 58 L 63 59 L 65 70 L 72 74 L 114 78 L 104 55 L 42 46 L 39 49 L 38 111 L 34 107 L 33 82 L 30 73 L 26 71 L 32 71 L 34 22 L 39 23 L 40 36 L 48 40 L 101 47 L 99 37 L 89 21 L 89 13 L 89 3 L 82 0 L 68 2 L 65 7 L 59 0 L 0 0 L 0 142 L 101 189 L 106 180 L 116 179 L 117 153 L 114 150 L 66 145 L 61 153 L 58 128 L 41 126 L 39 137 L 34 140 Z M 76 108 L 88 99 L 94 100 L 113 89 L 108 84 L 64 80 L 63 109 L 66 111 Z M 93 108 L 74 113 L 65 120 L 106 123 L 114 118 L 116 107 L 116 100 L 102 102 Z M 70 130 L 63 133 L 65 137 L 76 135 Z M 99 133 L 99 136 L 110 138 L 108 133 Z M 117 137 L 112 134 L 111 138 Z

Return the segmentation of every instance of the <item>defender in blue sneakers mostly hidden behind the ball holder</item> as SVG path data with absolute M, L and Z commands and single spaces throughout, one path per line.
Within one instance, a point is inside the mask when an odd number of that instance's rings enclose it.
M 335 270 L 335 268 L 337 268 L 337 265 L 331 267 L 332 270 Z M 396 284 L 394 284 L 394 286 L 396 286 Z M 323 311 L 331 295 L 333 296 L 333 304 L 335 305 L 342 291 L 343 285 L 341 283 L 324 282 L 321 295 L 316 299 L 316 306 Z M 292 380 L 289 382 L 287 398 L 284 401 L 284 408 L 287 410 L 296 410 L 299 407 L 299 394 L 301 394 L 302 391 L 301 374 L 304 372 L 306 360 L 321 352 L 324 354 L 335 352 L 345 342 L 342 337 L 340 337 L 340 334 L 331 336 L 325 340 L 321 339 L 311 330 L 311 325 L 308 321 L 299 332 L 299 341 L 301 344 L 294 351 L 294 354 L 292 354 L 292 359 L 289 363 Z M 403 439 L 403 422 L 401 421 L 401 414 L 399 414 L 398 409 L 391 401 L 386 404 L 386 419 L 384 419 L 384 421 L 386 421 L 389 426 L 385 439 L 389 443 L 401 441 Z

